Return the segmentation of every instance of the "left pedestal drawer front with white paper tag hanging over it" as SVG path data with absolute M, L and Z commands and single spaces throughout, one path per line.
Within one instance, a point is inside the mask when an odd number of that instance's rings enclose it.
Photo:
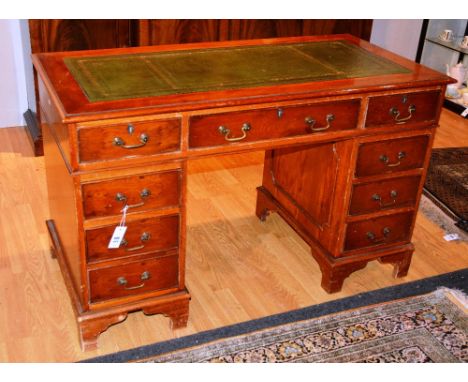
M 89 262 L 176 248 L 179 243 L 178 215 L 129 222 L 120 247 L 109 249 L 114 229 L 112 225 L 86 231 Z

